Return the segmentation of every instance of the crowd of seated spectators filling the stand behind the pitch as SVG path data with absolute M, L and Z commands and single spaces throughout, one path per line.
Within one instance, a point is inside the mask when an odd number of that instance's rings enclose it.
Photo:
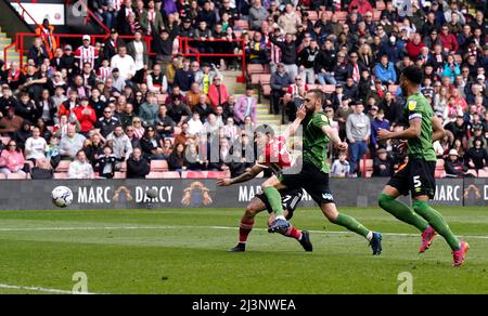
M 85 35 L 75 49 L 61 45 L 46 19 L 27 66 L 3 65 L 0 173 L 51 177 L 73 161 L 72 179 L 110 179 L 121 169 L 144 177 L 159 160 L 171 171 L 245 172 L 254 161 L 239 158 L 255 149 L 255 89 L 233 95 L 221 71 L 239 69 L 237 57 L 198 64 L 177 54 L 180 37 L 217 54 L 237 54 L 240 45 L 214 39 L 243 39 L 247 63 L 271 74 L 272 109 L 287 120 L 308 90 L 322 88 L 324 113 L 349 142 L 349 153 L 333 153 L 333 176 L 360 175 L 364 155 L 373 159 L 373 176 L 389 176 L 404 162 L 400 144 L 380 142 L 377 131 L 404 127 L 399 71 L 416 64 L 421 91 L 448 131 L 435 144 L 445 159 L 441 175 L 481 175 L 488 170 L 487 1 L 403 4 L 89 1 L 111 29 L 104 42 Z M 210 148 L 218 148 L 217 159 Z

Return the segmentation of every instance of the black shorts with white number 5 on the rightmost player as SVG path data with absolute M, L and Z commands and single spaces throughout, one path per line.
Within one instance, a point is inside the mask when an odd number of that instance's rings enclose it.
M 425 161 L 421 158 L 411 159 L 403 169 L 391 176 L 388 185 L 398 189 L 402 195 L 409 195 L 409 193 L 412 197 L 426 195 L 433 199 L 436 194 L 435 171 L 435 161 Z

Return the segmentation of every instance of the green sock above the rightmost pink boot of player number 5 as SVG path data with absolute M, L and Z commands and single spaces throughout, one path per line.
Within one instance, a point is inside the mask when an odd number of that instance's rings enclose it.
M 449 228 L 446 220 L 438 211 L 431 208 L 425 201 L 414 201 L 413 209 L 418 214 L 424 218 L 440 236 L 446 239 L 452 250 L 461 249 L 458 238 L 454 234 L 452 234 L 451 228 Z

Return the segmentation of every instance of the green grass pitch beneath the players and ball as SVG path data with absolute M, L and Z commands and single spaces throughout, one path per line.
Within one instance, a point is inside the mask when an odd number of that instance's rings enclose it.
M 393 233 L 385 234 L 380 258 L 361 237 L 333 233 L 344 229 L 319 210 L 298 209 L 293 220 L 313 231 L 312 253 L 266 233 L 265 214 L 247 252 L 227 253 L 237 238 L 237 209 L 2 211 L 0 285 L 70 291 L 73 274 L 85 272 L 97 293 L 397 293 L 398 274 L 409 272 L 414 293 L 488 293 L 488 212 L 439 210 L 472 247 L 461 268 L 451 268 L 441 238 L 419 255 L 418 232 L 377 209 L 346 212 Z

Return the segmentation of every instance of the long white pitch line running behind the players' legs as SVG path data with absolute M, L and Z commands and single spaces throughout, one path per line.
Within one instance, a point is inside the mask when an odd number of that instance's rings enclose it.
M 0 227 L 0 232 L 41 232 L 41 231 L 151 231 L 151 229 L 179 229 L 179 228 L 191 228 L 191 229 L 239 229 L 237 227 L 229 226 L 192 226 L 192 225 L 181 225 L 181 226 L 113 226 L 113 227 Z M 267 232 L 266 228 L 254 228 L 253 231 Z M 326 231 L 308 231 L 312 234 L 325 234 L 325 235 L 352 235 L 351 232 L 326 232 Z M 382 233 L 383 236 L 394 236 L 394 237 L 419 237 L 420 234 L 406 234 L 406 233 Z M 460 238 L 468 239 L 488 239 L 488 236 L 472 236 L 472 235 L 458 235 Z

